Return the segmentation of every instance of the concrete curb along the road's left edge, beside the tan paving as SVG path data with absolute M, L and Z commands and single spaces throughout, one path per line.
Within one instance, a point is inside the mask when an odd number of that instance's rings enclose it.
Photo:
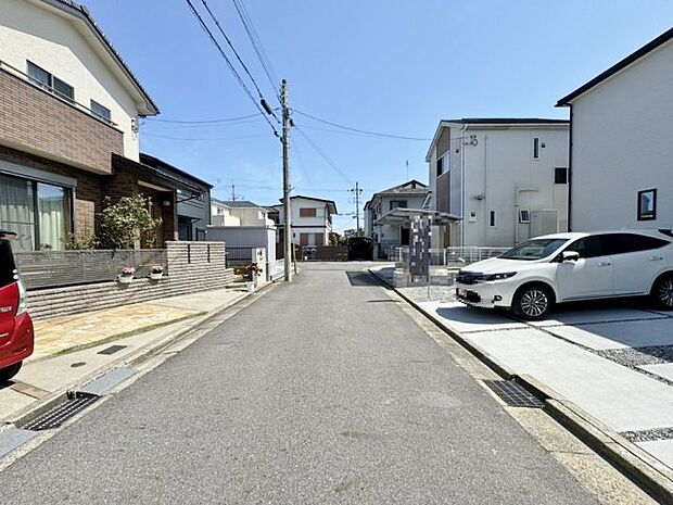
M 2 422 L 1 426 L 8 427 L 8 426 L 12 426 L 13 425 L 16 428 L 21 428 L 21 427 L 25 426 L 26 424 L 30 422 L 31 420 L 36 419 L 37 417 L 39 417 L 42 414 L 45 414 L 46 412 L 48 412 L 50 408 L 52 408 L 52 407 L 59 405 L 60 403 L 66 401 L 74 391 L 77 391 L 78 389 L 81 389 L 87 383 L 91 382 L 92 380 L 94 380 L 94 379 L 97 379 L 99 377 L 104 376 L 110 370 L 118 368 L 119 365 L 135 366 L 135 365 L 139 365 L 140 363 L 143 363 L 143 362 L 150 359 L 151 357 L 160 354 L 163 350 L 165 350 L 165 349 L 169 348 L 170 345 L 173 345 L 175 342 L 181 340 L 182 338 L 185 338 L 188 334 L 190 334 L 191 332 L 193 332 L 201 325 L 204 325 L 204 324 L 208 323 L 209 320 L 214 319 L 215 317 L 217 317 L 221 313 L 228 311 L 229 308 L 231 308 L 231 307 L 233 307 L 233 306 L 236 306 L 236 305 L 238 305 L 240 303 L 243 303 L 244 301 L 250 300 L 255 294 L 266 293 L 267 291 L 269 291 L 270 289 L 272 289 L 276 286 L 277 286 L 277 282 L 268 282 L 267 285 L 263 286 L 262 288 L 259 288 L 254 293 L 245 293 L 243 295 L 243 298 L 241 298 L 239 300 L 234 300 L 234 301 L 232 301 L 230 303 L 227 303 L 225 305 L 221 305 L 221 306 L 213 310 L 209 313 L 206 313 L 205 315 L 201 316 L 198 320 L 194 320 L 194 321 L 188 324 L 186 327 L 183 327 L 180 330 L 178 330 L 176 333 L 169 334 L 168 337 L 165 337 L 165 338 L 163 338 L 163 339 L 161 339 L 158 341 L 151 342 L 148 345 L 138 349 L 136 351 L 136 353 L 134 353 L 134 354 L 130 354 L 128 356 L 124 356 L 124 357 L 122 357 L 119 359 L 116 359 L 114 362 L 110 362 L 106 366 L 104 366 L 104 367 L 102 367 L 102 368 L 100 368 L 100 369 L 98 369 L 96 371 L 92 371 L 91 374 L 88 374 L 88 375 L 86 375 L 84 377 L 80 377 L 76 382 L 73 382 L 73 383 L 66 386 L 65 388 L 51 393 L 46 399 L 41 400 L 37 405 L 28 405 L 24 409 L 18 411 L 11 418 L 9 418 L 4 422 Z M 187 320 L 189 320 L 189 319 L 187 319 Z

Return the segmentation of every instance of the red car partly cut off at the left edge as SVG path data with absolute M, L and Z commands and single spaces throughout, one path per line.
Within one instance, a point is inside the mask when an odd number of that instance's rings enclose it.
M 18 278 L 10 240 L 15 233 L 0 230 L 0 383 L 14 377 L 33 354 L 33 320 L 26 289 Z

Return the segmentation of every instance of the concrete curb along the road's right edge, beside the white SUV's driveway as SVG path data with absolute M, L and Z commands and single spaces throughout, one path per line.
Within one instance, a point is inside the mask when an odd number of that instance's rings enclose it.
M 545 401 L 544 411 L 556 419 L 563 428 L 577 437 L 596 453 L 627 476 L 634 483 L 655 497 L 659 503 L 673 505 L 673 472 L 662 463 L 647 454 L 633 442 L 586 413 L 571 401 L 564 399 L 537 379 L 522 374 L 518 375 L 491 356 L 479 345 L 467 341 L 460 333 L 448 328 L 441 319 L 423 311 L 418 303 L 390 285 L 371 268 L 367 272 L 383 286 L 395 291 L 405 302 L 447 333 L 468 352 L 484 363 L 500 377 L 513 380 L 537 397 Z

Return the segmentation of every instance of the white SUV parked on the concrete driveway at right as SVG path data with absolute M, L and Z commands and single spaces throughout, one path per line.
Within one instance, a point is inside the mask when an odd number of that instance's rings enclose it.
M 649 295 L 673 310 L 673 232 L 619 230 L 531 239 L 498 257 L 461 268 L 456 296 L 542 319 L 556 303 Z

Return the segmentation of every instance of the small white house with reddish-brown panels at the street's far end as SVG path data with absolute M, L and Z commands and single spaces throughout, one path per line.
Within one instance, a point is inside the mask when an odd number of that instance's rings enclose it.
M 282 200 L 281 200 L 282 201 Z M 290 197 L 292 210 L 292 243 L 299 245 L 327 245 L 332 232 L 332 216 L 336 214 L 336 204 L 332 200 L 314 197 Z M 278 242 L 284 238 L 283 205 L 274 205 L 278 211 Z

